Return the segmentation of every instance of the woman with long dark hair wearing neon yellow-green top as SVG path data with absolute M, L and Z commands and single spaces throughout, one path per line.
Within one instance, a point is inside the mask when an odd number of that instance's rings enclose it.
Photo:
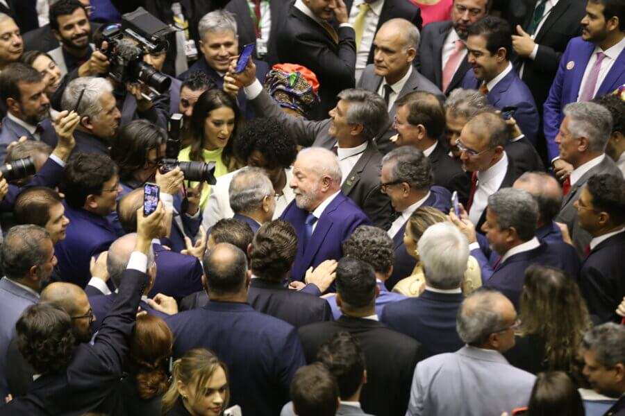
M 236 101 L 221 89 L 208 89 L 197 99 L 191 116 L 191 146 L 180 151 L 181 161 L 215 162 L 215 177 L 243 166 L 235 157 L 233 137 L 237 135 L 240 112 Z M 196 184 L 190 184 L 195 187 Z M 203 184 L 200 207 L 210 195 L 210 186 Z

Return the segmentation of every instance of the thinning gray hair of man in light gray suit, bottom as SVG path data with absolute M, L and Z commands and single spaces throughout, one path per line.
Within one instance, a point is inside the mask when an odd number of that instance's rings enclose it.
M 495 307 L 498 297 L 503 295 L 488 289 L 467 296 L 456 315 L 456 331 L 461 340 L 476 347 L 483 345 L 491 333 L 501 331 L 505 322 Z

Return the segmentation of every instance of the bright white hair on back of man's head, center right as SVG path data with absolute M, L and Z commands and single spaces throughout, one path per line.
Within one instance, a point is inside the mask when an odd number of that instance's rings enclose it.
M 460 286 L 469 260 L 469 241 L 452 223 L 431 225 L 417 243 L 428 286 L 447 290 Z

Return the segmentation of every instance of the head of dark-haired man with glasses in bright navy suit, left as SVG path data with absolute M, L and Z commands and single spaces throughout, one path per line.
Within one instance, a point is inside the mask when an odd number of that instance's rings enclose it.
M 121 191 L 117 166 L 110 157 L 76 153 L 65 166 L 61 190 L 73 209 L 85 209 L 99 216 L 115 211 Z

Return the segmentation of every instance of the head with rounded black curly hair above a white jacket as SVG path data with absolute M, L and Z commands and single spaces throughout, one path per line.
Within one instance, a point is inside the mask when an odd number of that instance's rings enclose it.
M 284 171 L 297 157 L 295 138 L 276 119 L 254 119 L 246 123 L 235 137 L 234 147 L 239 159 L 247 166 L 262 168 L 274 187 L 286 180 Z M 282 189 L 276 192 L 281 193 Z

